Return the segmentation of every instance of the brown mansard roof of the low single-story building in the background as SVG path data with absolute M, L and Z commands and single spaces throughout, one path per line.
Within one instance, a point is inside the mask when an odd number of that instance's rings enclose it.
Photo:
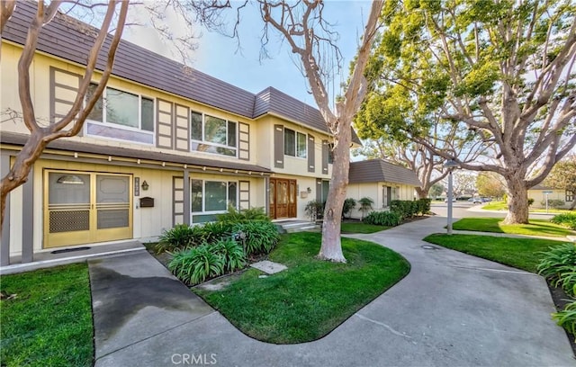
M 349 183 L 405 183 L 419 186 L 418 176 L 410 169 L 383 159 L 350 162 Z

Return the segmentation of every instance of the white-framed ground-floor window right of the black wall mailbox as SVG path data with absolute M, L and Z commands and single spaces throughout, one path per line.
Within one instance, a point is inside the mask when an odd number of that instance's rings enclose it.
M 231 205 L 238 209 L 238 182 L 192 180 L 191 209 L 193 213 L 224 212 Z

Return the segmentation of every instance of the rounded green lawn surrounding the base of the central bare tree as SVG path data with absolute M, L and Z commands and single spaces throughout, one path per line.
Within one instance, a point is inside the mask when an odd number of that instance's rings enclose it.
M 374 243 L 342 238 L 347 264 L 315 258 L 320 233 L 283 235 L 270 260 L 288 266 L 259 278 L 256 269 L 225 289 L 195 289 L 238 329 L 275 344 L 309 342 L 327 335 L 410 272 L 397 253 Z

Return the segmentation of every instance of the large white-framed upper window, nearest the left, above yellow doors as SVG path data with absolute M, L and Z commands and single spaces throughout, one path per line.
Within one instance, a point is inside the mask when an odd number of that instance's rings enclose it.
M 88 87 L 86 98 L 94 93 Z M 154 99 L 106 87 L 88 114 L 86 133 L 111 139 L 154 143 Z

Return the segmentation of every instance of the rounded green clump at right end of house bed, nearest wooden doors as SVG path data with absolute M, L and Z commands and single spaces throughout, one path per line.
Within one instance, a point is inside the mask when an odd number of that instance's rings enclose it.
M 280 240 L 278 228 L 270 221 L 238 223 L 232 230 L 242 242 L 246 255 L 268 254 Z

